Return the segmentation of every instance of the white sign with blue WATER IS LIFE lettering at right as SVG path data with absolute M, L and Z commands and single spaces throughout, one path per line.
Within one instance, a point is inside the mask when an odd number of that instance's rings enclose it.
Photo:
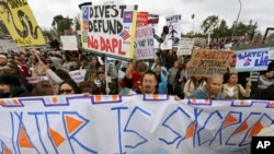
M 267 70 L 270 62 L 270 48 L 256 48 L 248 50 L 237 50 L 237 72 L 263 71 Z

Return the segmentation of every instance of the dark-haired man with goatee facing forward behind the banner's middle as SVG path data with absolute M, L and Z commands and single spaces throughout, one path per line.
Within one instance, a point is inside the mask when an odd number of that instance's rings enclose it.
M 129 92 L 130 94 L 157 94 L 157 75 L 153 71 L 148 71 L 142 76 L 141 86 L 136 91 Z

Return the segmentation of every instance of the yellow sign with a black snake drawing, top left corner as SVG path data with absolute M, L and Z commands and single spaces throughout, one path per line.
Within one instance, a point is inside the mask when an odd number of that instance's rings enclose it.
M 16 46 L 46 44 L 27 0 L 1 0 L 0 17 Z

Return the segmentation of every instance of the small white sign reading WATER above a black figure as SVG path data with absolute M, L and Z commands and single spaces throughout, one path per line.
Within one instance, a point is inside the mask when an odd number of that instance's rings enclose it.
M 174 14 L 165 16 L 165 25 L 169 27 L 167 39 L 172 40 L 172 46 L 178 46 L 182 32 L 182 15 Z

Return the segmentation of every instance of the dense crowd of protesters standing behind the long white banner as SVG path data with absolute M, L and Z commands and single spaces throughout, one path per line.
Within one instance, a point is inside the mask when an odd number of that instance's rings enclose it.
M 53 95 L 81 94 L 79 84 L 72 80 L 69 71 L 85 70 L 84 82 L 92 83 L 92 88 L 87 92 L 90 95 L 168 94 L 183 99 L 193 98 L 198 90 L 203 90 L 203 93 L 208 90 L 218 91 L 221 95 L 204 95 L 201 98 L 273 99 L 273 91 L 269 92 L 274 87 L 273 62 L 266 71 L 261 72 L 258 87 L 251 90 L 251 83 L 247 82 L 249 76 L 229 69 L 235 67 L 236 57 L 230 62 L 228 72 L 221 74 L 221 83 L 215 83 L 213 87 L 209 83 L 215 78 L 187 74 L 190 58 L 191 56 L 178 56 L 175 49 L 162 50 L 152 60 L 133 59 L 129 62 L 124 61 L 124 66 L 121 60 L 114 59 L 114 70 L 106 72 L 104 57 L 81 49 L 48 51 L 26 48 L 20 52 L 0 52 L 0 97 L 32 96 L 34 85 L 26 79 L 43 75 L 48 78 L 54 88 Z M 121 80 L 118 71 L 124 72 Z

